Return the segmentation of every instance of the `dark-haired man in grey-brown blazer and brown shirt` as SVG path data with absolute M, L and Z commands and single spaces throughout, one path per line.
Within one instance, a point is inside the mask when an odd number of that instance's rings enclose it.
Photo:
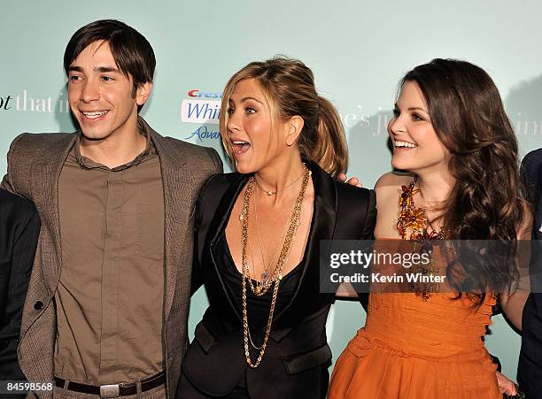
M 81 27 L 64 66 L 80 130 L 19 135 L 2 181 L 42 219 L 19 364 L 55 397 L 173 396 L 187 345 L 192 210 L 221 159 L 138 116 L 155 58 L 132 27 Z

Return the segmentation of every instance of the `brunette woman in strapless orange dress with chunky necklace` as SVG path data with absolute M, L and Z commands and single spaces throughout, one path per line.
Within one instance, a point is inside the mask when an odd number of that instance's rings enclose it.
M 376 239 L 529 239 L 515 134 L 487 73 L 435 59 L 406 73 L 400 88 L 391 165 L 409 173 L 376 182 Z M 338 358 L 329 398 L 502 397 L 482 338 L 497 301 L 521 329 L 528 292 L 515 284 L 514 262 L 476 260 L 461 270 L 482 289 L 461 293 L 464 280 L 447 275 L 453 289 L 371 292 L 366 326 Z

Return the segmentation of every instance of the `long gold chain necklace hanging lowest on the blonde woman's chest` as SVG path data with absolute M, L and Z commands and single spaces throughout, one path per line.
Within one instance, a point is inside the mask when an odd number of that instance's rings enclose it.
M 248 324 L 248 312 L 247 312 L 247 305 L 246 305 L 246 282 L 248 281 L 251 285 L 252 291 L 254 291 L 252 287 L 252 280 L 249 273 L 249 266 L 246 258 L 246 246 L 248 242 L 248 220 L 249 220 L 249 209 L 250 209 L 250 200 L 252 193 L 254 191 L 254 177 L 252 176 L 251 180 L 248 181 L 246 185 L 246 189 L 244 191 L 244 202 L 243 202 L 243 212 L 241 214 L 241 253 L 242 253 L 242 259 L 243 259 L 243 334 L 244 334 L 244 356 L 246 357 L 246 363 L 252 367 L 256 368 L 261 363 L 261 359 L 264 356 L 264 353 L 267 349 L 267 341 L 269 339 L 269 334 L 271 333 L 271 325 L 273 324 L 273 314 L 275 312 L 275 304 L 276 304 L 276 297 L 278 295 L 278 288 L 280 281 L 283 279 L 283 265 L 286 262 L 286 259 L 289 257 L 290 254 L 290 248 L 291 248 L 291 242 L 293 240 L 294 234 L 296 232 L 296 228 L 298 225 L 298 219 L 299 215 L 301 214 L 301 205 L 303 203 L 303 197 L 305 196 L 306 186 L 309 181 L 309 177 L 311 175 L 310 171 L 304 165 L 305 173 L 303 175 L 303 182 L 301 184 L 301 189 L 299 191 L 298 199 L 296 200 L 296 203 L 294 204 L 293 211 L 291 212 L 291 218 L 290 218 L 290 226 L 288 227 L 288 231 L 286 232 L 286 237 L 284 238 L 284 244 L 283 249 L 281 250 L 281 254 L 279 255 L 274 276 L 275 277 L 275 287 L 273 289 L 273 296 L 271 298 L 271 305 L 269 307 L 269 316 L 267 318 L 267 326 L 266 326 L 266 332 L 264 335 L 263 343 L 259 349 L 258 357 L 256 358 L 256 361 L 252 363 L 251 359 L 251 353 L 249 350 L 249 324 Z M 252 341 L 252 340 L 251 340 Z

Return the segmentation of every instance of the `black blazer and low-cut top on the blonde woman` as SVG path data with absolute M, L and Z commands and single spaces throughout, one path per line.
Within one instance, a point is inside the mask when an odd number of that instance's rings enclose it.
M 333 180 L 309 163 L 314 182 L 314 213 L 297 292 L 275 314 L 264 358 L 250 369 L 244 358 L 241 309 L 229 297 L 214 261 L 236 197 L 250 175 L 228 173 L 207 181 L 196 208 L 193 289 L 204 282 L 210 306 L 197 325 L 195 341 L 182 362 L 183 374 L 206 395 L 221 396 L 236 387 L 246 369 L 249 394 L 259 399 L 325 397 L 331 360 L 325 331 L 333 294 L 320 294 L 321 240 L 370 240 L 376 223 L 373 190 Z M 186 381 L 184 381 L 186 383 Z M 177 397 L 183 395 L 183 382 Z

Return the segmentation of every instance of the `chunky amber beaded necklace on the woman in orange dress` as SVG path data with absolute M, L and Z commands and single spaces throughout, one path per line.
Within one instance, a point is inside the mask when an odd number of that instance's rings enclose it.
M 413 196 L 420 192 L 420 188 L 414 189 L 418 176 L 408 186 L 401 186 L 401 195 L 399 196 L 399 218 L 397 220 L 397 229 L 402 240 L 410 240 L 420 242 L 422 244 L 422 252 L 430 255 L 430 262 L 427 264 L 416 264 L 413 266 L 413 272 L 419 272 L 422 276 L 433 276 L 438 272 L 435 266 L 432 255 L 431 241 L 445 239 L 445 227 L 440 230 L 431 229 L 428 233 L 427 227 L 430 226 L 429 219 L 424 209 L 416 208 L 414 205 Z M 407 229 L 410 228 L 410 235 L 407 234 Z M 414 250 L 416 245 L 414 243 Z M 421 279 L 422 280 L 422 279 Z M 428 301 L 433 293 L 439 292 L 438 283 L 432 282 L 414 282 L 412 283 L 414 293 L 421 297 L 423 301 Z

